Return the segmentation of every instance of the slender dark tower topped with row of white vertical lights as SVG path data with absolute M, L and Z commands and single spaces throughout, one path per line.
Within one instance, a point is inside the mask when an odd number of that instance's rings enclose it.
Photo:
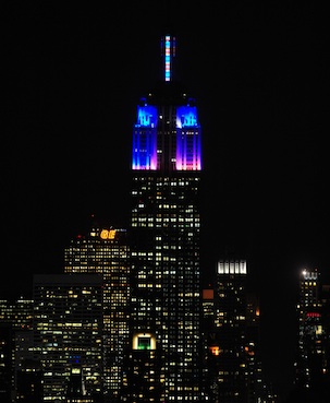
M 246 275 L 245 260 L 219 260 L 215 291 L 215 334 L 208 358 L 213 402 L 248 402 L 254 345 L 248 343 L 246 334 Z

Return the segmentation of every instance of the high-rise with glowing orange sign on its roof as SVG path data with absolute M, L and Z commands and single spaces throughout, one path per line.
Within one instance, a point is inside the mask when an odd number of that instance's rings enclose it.
M 125 229 L 91 226 L 64 250 L 65 273 L 102 276 L 102 356 L 105 401 L 120 398 L 124 351 L 129 342 L 130 266 Z

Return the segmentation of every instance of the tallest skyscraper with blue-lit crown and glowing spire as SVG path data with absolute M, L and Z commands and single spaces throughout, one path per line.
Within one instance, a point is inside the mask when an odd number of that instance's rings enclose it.
M 133 130 L 131 352 L 126 401 L 200 402 L 201 131 L 173 80 L 175 38 L 162 38 L 163 80 L 140 99 Z

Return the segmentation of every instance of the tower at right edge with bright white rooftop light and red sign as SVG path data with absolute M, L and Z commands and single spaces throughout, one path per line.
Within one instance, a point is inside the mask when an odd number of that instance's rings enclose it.
M 302 401 L 329 402 L 329 287 L 317 269 L 301 272 L 297 321 L 295 394 Z

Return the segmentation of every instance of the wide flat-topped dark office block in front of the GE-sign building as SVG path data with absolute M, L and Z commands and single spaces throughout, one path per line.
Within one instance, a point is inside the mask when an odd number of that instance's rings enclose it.
M 34 276 L 34 344 L 44 401 L 65 399 L 76 365 L 84 379 L 83 398 L 102 394 L 102 284 L 97 274 Z

